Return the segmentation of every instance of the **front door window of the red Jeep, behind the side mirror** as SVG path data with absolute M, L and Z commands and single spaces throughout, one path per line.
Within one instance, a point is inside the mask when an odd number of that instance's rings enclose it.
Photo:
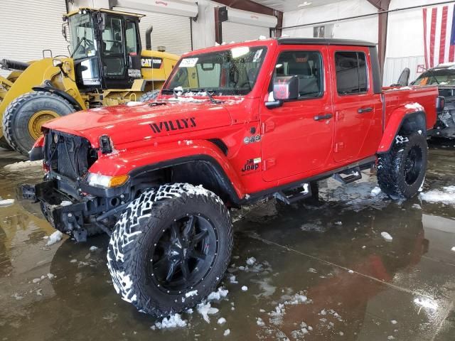
M 299 76 L 299 99 L 323 95 L 323 66 L 317 51 L 286 51 L 279 55 L 274 76 Z

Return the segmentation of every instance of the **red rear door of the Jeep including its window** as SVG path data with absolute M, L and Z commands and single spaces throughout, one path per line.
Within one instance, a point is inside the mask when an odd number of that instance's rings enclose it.
M 329 46 L 335 134 L 333 158 L 348 163 L 375 155 L 382 131 L 380 94 L 373 93 L 368 47 Z

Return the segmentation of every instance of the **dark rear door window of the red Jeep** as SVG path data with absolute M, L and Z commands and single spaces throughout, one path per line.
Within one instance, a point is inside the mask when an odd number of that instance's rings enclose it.
M 363 52 L 336 52 L 336 89 L 338 94 L 360 94 L 368 90 L 366 56 Z

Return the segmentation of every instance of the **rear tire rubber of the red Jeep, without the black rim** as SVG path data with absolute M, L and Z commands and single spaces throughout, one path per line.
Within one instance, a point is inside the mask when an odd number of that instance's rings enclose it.
M 408 141 L 395 141 L 387 153 L 378 158 L 378 185 L 382 192 L 390 197 L 410 198 L 419 192 L 427 171 L 428 145 L 427 138 L 418 133 L 402 136 Z M 422 152 L 422 165 L 417 179 L 407 183 L 405 179 L 405 162 L 412 148 Z

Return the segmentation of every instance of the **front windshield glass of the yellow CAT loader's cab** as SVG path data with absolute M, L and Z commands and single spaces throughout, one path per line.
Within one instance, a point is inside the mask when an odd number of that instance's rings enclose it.
M 96 54 L 93 38 L 93 21 L 90 13 L 75 14 L 68 18 L 70 26 L 71 53 L 74 59 L 91 57 Z

